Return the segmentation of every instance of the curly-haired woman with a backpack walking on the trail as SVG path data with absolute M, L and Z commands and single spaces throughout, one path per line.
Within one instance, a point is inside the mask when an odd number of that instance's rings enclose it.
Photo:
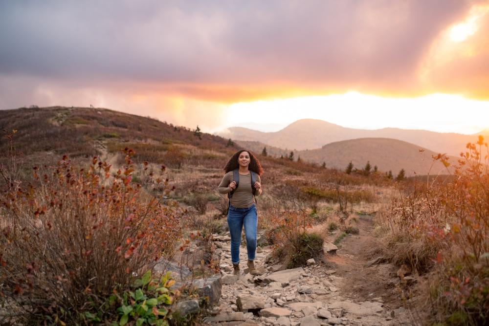
M 224 171 L 226 174 L 224 174 L 218 190 L 220 194 L 227 194 L 229 197 L 227 224 L 231 234 L 231 261 L 233 262 L 234 274 L 240 274 L 241 231 L 244 226 L 249 273 L 258 275 L 260 272 L 254 263 L 258 226 L 254 196 L 262 194 L 260 175 L 263 173 L 263 169 L 255 155 L 250 151 L 241 150 L 229 159 Z

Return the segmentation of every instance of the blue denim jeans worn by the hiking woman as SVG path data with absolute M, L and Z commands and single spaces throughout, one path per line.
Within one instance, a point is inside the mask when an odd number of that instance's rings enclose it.
M 227 225 L 231 234 L 231 261 L 233 264 L 240 262 L 241 230 L 244 225 L 244 235 L 246 236 L 246 249 L 248 260 L 255 260 L 256 253 L 256 229 L 258 227 L 258 215 L 256 205 L 248 208 L 238 208 L 229 206 L 227 213 Z

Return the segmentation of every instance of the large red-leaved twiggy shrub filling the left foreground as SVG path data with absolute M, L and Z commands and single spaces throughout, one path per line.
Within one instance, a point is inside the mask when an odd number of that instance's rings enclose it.
M 84 169 L 65 156 L 54 168 L 34 168 L 34 183 L 1 194 L 0 283 L 26 308 L 26 324 L 75 324 L 170 254 L 165 239 L 178 238 L 178 211 L 141 196 L 131 182 L 134 152 L 125 152 L 126 165 L 112 175 L 97 158 Z

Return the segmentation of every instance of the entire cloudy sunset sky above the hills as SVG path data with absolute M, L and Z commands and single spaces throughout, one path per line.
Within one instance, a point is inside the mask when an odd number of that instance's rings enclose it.
M 487 0 L 3 0 L 0 109 L 474 133 L 489 128 L 487 35 Z

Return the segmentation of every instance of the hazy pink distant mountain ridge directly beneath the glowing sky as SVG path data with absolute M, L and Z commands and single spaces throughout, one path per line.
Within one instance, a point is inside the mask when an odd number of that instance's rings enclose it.
M 361 130 L 344 128 L 315 119 L 297 120 L 286 128 L 275 132 L 232 127 L 218 134 L 236 141 L 258 141 L 268 146 L 289 150 L 317 149 L 333 142 L 357 138 L 393 138 L 449 155 L 458 155 L 465 149 L 468 142 L 475 142 L 478 135 L 397 128 Z

